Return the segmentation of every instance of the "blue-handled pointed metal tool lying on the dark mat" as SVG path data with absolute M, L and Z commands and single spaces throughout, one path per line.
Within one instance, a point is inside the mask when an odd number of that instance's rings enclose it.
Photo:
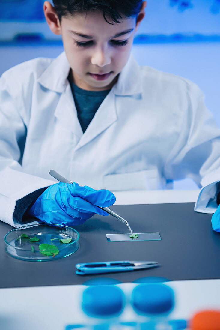
M 76 264 L 77 275 L 129 272 L 160 266 L 156 261 L 107 261 Z

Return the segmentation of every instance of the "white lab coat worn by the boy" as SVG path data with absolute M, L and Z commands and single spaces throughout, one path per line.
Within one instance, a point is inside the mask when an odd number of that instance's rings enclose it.
M 111 191 L 167 189 L 191 177 L 205 186 L 196 210 L 214 212 L 220 130 L 197 85 L 140 66 L 131 54 L 83 134 L 69 70 L 62 53 L 21 63 L 0 79 L 2 221 L 20 225 L 16 200 L 57 182 L 51 169 Z

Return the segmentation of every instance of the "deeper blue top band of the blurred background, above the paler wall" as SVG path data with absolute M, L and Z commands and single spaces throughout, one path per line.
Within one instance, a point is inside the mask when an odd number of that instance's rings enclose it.
M 0 27 L 5 27 L 0 39 L 12 39 L 24 32 L 60 39 L 47 28 L 43 3 L 44 0 L 0 0 Z M 145 12 L 138 34 L 220 36 L 220 0 L 148 0 Z

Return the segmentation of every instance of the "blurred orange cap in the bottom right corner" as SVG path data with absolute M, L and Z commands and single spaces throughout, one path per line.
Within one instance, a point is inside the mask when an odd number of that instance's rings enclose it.
M 220 330 L 220 310 L 201 311 L 190 321 L 192 330 Z

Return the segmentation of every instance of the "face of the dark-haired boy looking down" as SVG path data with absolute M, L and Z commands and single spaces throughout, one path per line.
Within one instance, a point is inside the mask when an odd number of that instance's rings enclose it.
M 129 58 L 139 23 L 136 24 L 135 18 L 126 18 L 111 25 L 101 11 L 89 12 L 86 18 L 85 15 L 62 17 L 57 28 L 62 34 L 75 84 L 85 90 L 110 89 Z M 116 36 L 125 31 L 126 34 Z

